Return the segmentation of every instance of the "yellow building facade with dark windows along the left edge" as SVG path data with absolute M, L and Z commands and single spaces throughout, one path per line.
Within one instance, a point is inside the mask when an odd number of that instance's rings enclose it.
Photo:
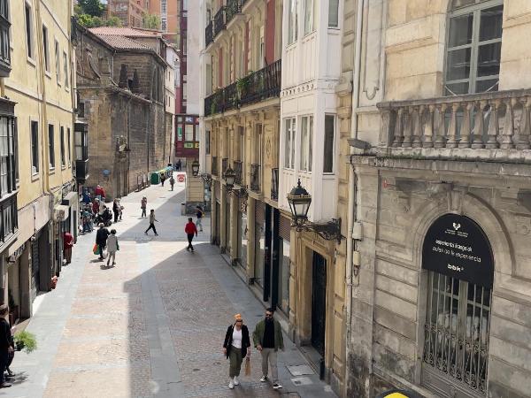
M 63 233 L 77 234 L 73 2 L 3 0 L 0 12 L 0 301 L 14 321 L 59 276 Z

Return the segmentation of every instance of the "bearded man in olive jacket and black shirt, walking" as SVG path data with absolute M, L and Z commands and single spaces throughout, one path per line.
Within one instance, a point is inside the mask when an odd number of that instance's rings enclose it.
M 273 308 L 266 310 L 266 318 L 258 322 L 252 333 L 252 340 L 255 347 L 262 355 L 262 383 L 267 381 L 267 362 L 271 367 L 273 377 L 273 388 L 282 388 L 279 382 L 279 372 L 277 369 L 277 352 L 279 348 L 284 350 L 284 340 L 282 338 L 281 324 L 273 318 Z

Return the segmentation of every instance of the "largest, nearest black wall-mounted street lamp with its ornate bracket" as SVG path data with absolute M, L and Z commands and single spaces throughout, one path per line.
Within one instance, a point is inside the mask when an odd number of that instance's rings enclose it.
M 308 210 L 312 203 L 312 195 L 301 186 L 301 180 L 298 180 L 296 187 L 291 189 L 288 194 L 289 210 L 291 211 L 292 227 L 297 232 L 308 231 L 319 234 L 327 241 L 335 240 L 341 243 L 341 218 L 332 218 L 324 224 L 317 224 L 308 221 Z

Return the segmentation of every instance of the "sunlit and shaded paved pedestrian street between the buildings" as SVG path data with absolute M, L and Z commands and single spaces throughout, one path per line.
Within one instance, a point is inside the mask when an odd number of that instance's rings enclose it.
M 144 235 L 142 195 L 156 211 L 158 237 Z M 3 394 L 13 397 L 333 397 L 315 375 L 299 379 L 287 366 L 306 364 L 287 337 L 279 357 L 284 388 L 260 383 L 260 358 L 251 354 L 251 375 L 227 387 L 222 355 L 227 325 L 241 312 L 250 329 L 264 308 L 219 256 L 209 220 L 196 252 L 186 251 L 180 215 L 183 187 L 151 187 L 122 200 L 124 219 L 117 264 L 107 268 L 91 253 L 95 233 L 81 236 L 73 263 L 58 288 L 42 298 L 27 330 L 39 348 L 18 354 L 19 376 Z M 2 395 L 2 394 L 0 394 Z

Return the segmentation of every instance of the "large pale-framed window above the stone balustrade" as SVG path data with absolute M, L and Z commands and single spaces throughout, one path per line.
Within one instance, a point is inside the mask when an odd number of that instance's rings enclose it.
M 452 0 L 446 39 L 446 96 L 498 89 L 503 12 L 503 0 Z

